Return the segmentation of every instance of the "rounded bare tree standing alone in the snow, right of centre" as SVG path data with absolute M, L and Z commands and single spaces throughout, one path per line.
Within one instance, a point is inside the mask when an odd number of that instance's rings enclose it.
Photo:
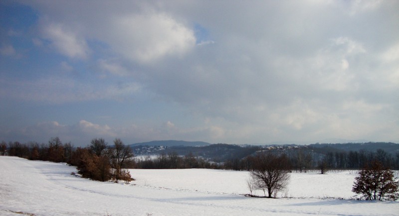
M 290 179 L 290 165 L 286 155 L 276 156 L 272 153 L 258 154 L 254 158 L 254 167 L 250 175 L 257 188 L 267 190 L 268 198 L 273 193 L 283 191 Z

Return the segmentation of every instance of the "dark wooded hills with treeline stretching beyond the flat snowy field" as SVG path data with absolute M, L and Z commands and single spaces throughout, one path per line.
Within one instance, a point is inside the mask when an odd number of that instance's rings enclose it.
M 376 148 L 376 146 L 386 147 L 379 144 L 370 147 L 372 143 L 367 143 L 366 146 L 369 149 Z M 396 148 L 399 147 L 398 144 L 389 143 L 391 147 L 391 144 L 394 144 Z M 211 168 L 251 170 L 252 159 L 257 153 L 271 152 L 277 155 L 287 155 L 291 168 L 297 172 L 319 169 L 322 165 L 328 169 L 361 169 L 371 165 L 374 160 L 380 161 L 385 167 L 399 170 L 398 150 L 387 152 L 384 149 L 376 148 L 376 151 L 365 149 L 346 151 L 336 148 L 339 145 L 341 144 L 285 145 L 278 148 L 229 144 L 212 144 L 199 147 L 173 146 L 159 151 L 156 157 L 147 156 L 136 159 L 135 167 L 140 169 Z M 347 144 L 342 145 L 347 146 Z M 363 144 L 354 144 L 354 147 L 358 148 L 360 145 Z M 140 147 L 142 148 L 142 146 Z M 191 163 L 188 165 L 186 161 L 191 161 Z

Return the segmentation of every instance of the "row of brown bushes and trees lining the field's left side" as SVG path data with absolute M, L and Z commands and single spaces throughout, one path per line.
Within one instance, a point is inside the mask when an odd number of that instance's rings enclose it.
M 9 156 L 29 160 L 66 162 L 76 166 L 82 177 L 92 180 L 133 180 L 127 170 L 134 167 L 133 151 L 118 138 L 112 146 L 103 138 L 94 138 L 88 147 L 75 148 L 70 142 L 63 144 L 59 137 L 51 137 L 48 144 L 9 142 L 7 146 L 1 142 L 0 147 L 2 155 L 7 152 Z

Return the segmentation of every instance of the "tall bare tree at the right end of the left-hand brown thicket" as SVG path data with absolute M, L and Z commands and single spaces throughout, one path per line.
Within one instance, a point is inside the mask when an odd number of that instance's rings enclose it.
M 121 139 L 116 138 L 114 140 L 114 146 L 108 149 L 108 159 L 111 167 L 114 169 L 114 178 L 116 182 L 125 177 L 124 174 L 126 174 L 126 172 L 122 172 L 122 168 L 124 168 L 124 165 L 128 163 L 133 156 L 134 154 L 130 146 L 125 146 Z

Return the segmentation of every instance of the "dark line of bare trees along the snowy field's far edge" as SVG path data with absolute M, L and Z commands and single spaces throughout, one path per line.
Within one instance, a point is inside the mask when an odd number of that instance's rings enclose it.
M 286 151 L 261 151 L 265 154 L 272 154 L 276 156 L 285 155 L 289 161 L 292 171 L 307 172 L 308 170 L 319 169 L 322 173 L 329 169 L 361 169 L 365 166 L 371 166 L 372 161 L 379 161 L 385 167 L 397 169 L 399 158 L 389 157 L 390 154 L 385 153 L 384 150 L 379 149 L 376 152 L 351 151 L 349 154 L 344 153 L 327 153 L 327 155 L 313 152 L 312 150 L 293 150 L 287 154 Z M 187 169 L 187 168 L 207 168 L 207 169 L 226 169 L 226 170 L 251 170 L 254 166 L 255 154 L 248 155 L 243 158 L 232 158 L 222 162 L 213 162 L 210 159 L 204 159 L 199 156 L 194 156 L 193 153 L 188 153 L 185 156 L 178 155 L 177 152 L 161 152 L 155 157 L 145 156 L 136 159 L 135 168 L 138 169 Z M 361 155 L 358 163 L 350 163 L 347 166 L 349 158 L 347 156 Z M 384 157 L 382 155 L 388 155 Z M 343 159 L 344 158 L 344 159 Z M 345 163 L 337 162 L 345 161 Z

